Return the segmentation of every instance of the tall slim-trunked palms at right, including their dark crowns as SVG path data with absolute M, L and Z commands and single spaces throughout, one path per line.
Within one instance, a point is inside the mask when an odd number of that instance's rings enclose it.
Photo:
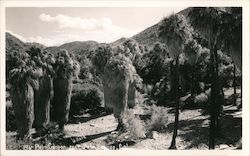
M 187 52 L 185 44 L 196 42 L 192 32 L 197 30 L 208 41 L 211 69 L 210 137 L 209 149 L 215 147 L 215 136 L 220 128 L 221 86 L 218 77 L 218 50 L 231 52 L 234 63 L 241 68 L 242 8 L 191 8 L 188 18 L 174 14 L 161 21 L 159 37 L 163 39 L 175 56 L 175 124 L 170 149 L 176 149 L 179 116 L 179 56 L 186 56 L 188 62 L 196 62 L 196 53 Z M 188 43 L 189 42 L 189 43 Z

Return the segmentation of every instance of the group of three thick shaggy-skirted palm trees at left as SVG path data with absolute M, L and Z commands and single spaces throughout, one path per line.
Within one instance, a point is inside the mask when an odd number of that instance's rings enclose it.
M 78 63 L 66 50 L 54 57 L 36 47 L 14 53 L 9 60 L 13 62 L 8 81 L 18 138 L 28 141 L 32 127 L 37 133 L 46 131 L 51 121 L 51 105 L 53 120 L 63 129 L 68 120 L 72 78 L 78 75 Z

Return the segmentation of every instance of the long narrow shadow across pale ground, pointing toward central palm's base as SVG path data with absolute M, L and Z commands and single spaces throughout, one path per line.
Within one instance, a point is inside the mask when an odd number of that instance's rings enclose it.
M 62 136 L 53 140 L 52 143 L 55 145 L 66 146 L 66 147 L 75 146 L 77 144 L 82 144 L 82 143 L 106 136 L 110 134 L 111 132 L 113 131 L 108 131 L 108 132 L 103 132 L 103 133 L 93 134 L 93 135 L 86 135 L 86 136 L 73 136 L 73 137 L 67 137 L 67 138 L 64 138 Z

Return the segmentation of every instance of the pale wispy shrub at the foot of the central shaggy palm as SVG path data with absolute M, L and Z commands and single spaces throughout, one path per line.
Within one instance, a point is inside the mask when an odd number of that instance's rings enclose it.
M 124 123 L 130 139 L 138 140 L 146 137 L 145 124 L 138 116 L 134 115 L 132 109 L 125 113 Z

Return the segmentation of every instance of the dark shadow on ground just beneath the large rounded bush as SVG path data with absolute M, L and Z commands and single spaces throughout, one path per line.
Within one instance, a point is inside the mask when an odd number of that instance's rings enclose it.
M 87 122 L 92 119 L 96 119 L 99 117 L 107 116 L 112 114 L 111 111 L 107 111 L 104 107 L 96 107 L 92 109 L 88 109 L 87 111 L 83 112 L 81 115 L 72 115 L 69 119 L 70 124 L 78 124 Z

